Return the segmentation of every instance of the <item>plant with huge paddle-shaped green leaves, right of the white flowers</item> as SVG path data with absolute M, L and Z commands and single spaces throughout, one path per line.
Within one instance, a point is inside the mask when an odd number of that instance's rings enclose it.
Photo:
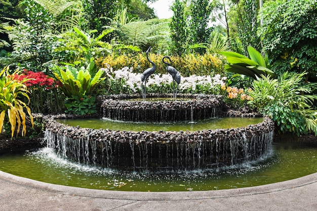
M 248 47 L 248 53 L 251 59 L 235 53 L 235 52 L 220 52 L 226 56 L 228 64 L 225 65 L 225 70 L 228 72 L 239 73 L 254 79 L 260 78 L 261 75 L 275 76 L 267 62 L 267 58 L 262 57 L 261 53 L 253 47 Z

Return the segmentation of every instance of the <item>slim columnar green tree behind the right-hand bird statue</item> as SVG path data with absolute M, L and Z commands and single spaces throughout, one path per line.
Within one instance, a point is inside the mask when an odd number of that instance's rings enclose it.
M 173 42 L 172 52 L 178 56 L 185 53 L 187 44 L 187 22 L 184 16 L 184 4 L 176 0 L 171 7 L 174 12 L 170 23 L 170 36 Z

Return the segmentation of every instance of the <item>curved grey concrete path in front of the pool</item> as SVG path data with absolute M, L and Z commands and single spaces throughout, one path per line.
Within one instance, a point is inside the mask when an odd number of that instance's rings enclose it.
M 317 173 L 251 188 L 123 192 L 53 185 L 0 171 L 0 210 L 317 210 Z

